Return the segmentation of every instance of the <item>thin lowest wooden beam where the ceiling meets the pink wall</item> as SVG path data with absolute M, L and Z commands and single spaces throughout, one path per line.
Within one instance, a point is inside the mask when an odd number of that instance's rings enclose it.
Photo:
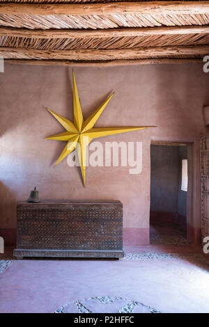
M 187 58 L 154 58 L 154 59 L 135 59 L 135 60 L 113 60 L 113 61 L 58 61 L 58 60 L 24 60 L 24 59 L 6 59 L 6 63 L 18 65 L 63 65 L 71 67 L 111 67 L 125 65 L 161 65 L 171 63 L 199 63 L 201 59 Z

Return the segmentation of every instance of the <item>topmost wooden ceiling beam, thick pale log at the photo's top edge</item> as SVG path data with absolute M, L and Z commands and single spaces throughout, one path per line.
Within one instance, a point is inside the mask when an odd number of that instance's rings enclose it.
M 0 14 L 7 15 L 125 15 L 209 13 L 209 1 L 150 1 L 77 4 L 1 3 Z

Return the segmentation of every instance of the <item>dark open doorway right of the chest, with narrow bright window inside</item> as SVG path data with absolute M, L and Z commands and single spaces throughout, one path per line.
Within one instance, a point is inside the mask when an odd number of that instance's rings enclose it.
M 150 146 L 150 244 L 187 244 L 187 145 Z

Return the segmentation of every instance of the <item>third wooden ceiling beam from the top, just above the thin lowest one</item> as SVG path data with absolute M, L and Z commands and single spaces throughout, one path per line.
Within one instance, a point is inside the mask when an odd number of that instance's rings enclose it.
M 134 49 L 70 49 L 40 50 L 15 47 L 0 47 L 0 56 L 11 59 L 59 59 L 71 61 L 107 61 L 137 59 L 159 56 L 206 55 L 209 45 L 189 45 L 173 47 L 138 47 Z

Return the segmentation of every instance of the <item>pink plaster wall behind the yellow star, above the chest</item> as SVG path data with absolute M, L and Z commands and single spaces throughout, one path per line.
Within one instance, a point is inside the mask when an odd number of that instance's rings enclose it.
M 142 141 L 142 173 L 130 175 L 128 167 L 88 167 L 84 188 L 78 168 L 70 168 L 66 159 L 54 168 L 65 143 L 44 138 L 64 129 L 46 107 L 72 119 L 72 68 L 6 64 L 0 73 L 0 228 L 16 227 L 16 202 L 28 198 L 36 185 L 40 199 L 119 199 L 127 234 L 132 235 L 130 228 L 137 234 L 141 229 L 146 231 L 141 239 L 147 240 L 150 141 L 158 140 L 194 142 L 189 225 L 199 229 L 199 135 L 203 105 L 209 105 L 209 74 L 202 65 L 76 67 L 75 74 L 84 118 L 115 91 L 97 127 L 157 125 L 100 139 Z

